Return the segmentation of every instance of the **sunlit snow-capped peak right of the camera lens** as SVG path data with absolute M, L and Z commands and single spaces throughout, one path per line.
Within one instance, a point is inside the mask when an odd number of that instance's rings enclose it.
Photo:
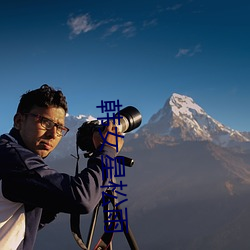
M 249 142 L 249 138 L 209 116 L 191 97 L 174 93 L 148 124 L 142 134 L 168 137 L 169 140 L 211 141 L 220 146 Z

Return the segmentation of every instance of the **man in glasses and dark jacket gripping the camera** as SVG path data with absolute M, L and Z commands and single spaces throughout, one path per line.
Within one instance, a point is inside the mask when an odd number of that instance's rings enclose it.
M 73 177 L 50 169 L 44 162 L 58 145 L 65 127 L 67 102 L 60 90 L 48 85 L 22 95 L 14 126 L 0 137 L 0 249 L 32 250 L 39 228 L 54 219 L 58 212 L 88 213 L 100 201 L 102 179 L 101 155 L 114 158 L 123 146 L 118 138 L 115 147 L 104 145 L 101 136 L 93 135 L 96 152 L 88 166 Z M 104 138 L 116 144 L 107 126 Z

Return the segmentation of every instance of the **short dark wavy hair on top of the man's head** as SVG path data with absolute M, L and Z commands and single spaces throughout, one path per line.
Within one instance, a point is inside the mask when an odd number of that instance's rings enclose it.
M 34 107 L 61 107 L 68 112 L 66 97 L 61 90 L 55 90 L 47 84 L 43 84 L 39 89 L 31 90 L 21 96 L 17 113 L 28 113 Z

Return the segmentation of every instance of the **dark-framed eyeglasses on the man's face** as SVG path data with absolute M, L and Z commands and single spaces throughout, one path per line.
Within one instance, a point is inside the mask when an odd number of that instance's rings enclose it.
M 52 120 L 46 117 L 43 117 L 41 115 L 37 115 L 33 113 L 25 113 L 24 115 L 31 115 L 33 117 L 36 117 L 39 120 L 41 126 L 45 128 L 46 130 L 50 130 L 53 127 L 56 127 L 56 133 L 58 136 L 65 136 L 69 132 L 69 129 L 67 127 L 57 124 L 53 122 Z

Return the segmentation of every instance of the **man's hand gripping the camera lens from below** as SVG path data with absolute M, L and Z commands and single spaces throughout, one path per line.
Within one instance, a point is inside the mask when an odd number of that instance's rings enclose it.
M 113 133 L 113 134 L 111 134 Z M 120 136 L 118 136 L 120 135 Z M 115 131 L 115 126 L 112 122 L 109 123 L 108 126 L 106 126 L 105 130 L 102 133 L 103 138 L 105 138 L 105 141 L 103 141 L 102 136 L 98 131 L 94 132 L 93 134 L 93 143 L 95 145 L 95 148 L 98 148 L 101 144 L 105 143 L 107 146 L 114 148 L 117 151 L 117 154 L 120 152 L 120 150 L 123 147 L 124 140 L 121 137 L 122 133 Z M 107 138 L 106 138 L 107 137 Z

